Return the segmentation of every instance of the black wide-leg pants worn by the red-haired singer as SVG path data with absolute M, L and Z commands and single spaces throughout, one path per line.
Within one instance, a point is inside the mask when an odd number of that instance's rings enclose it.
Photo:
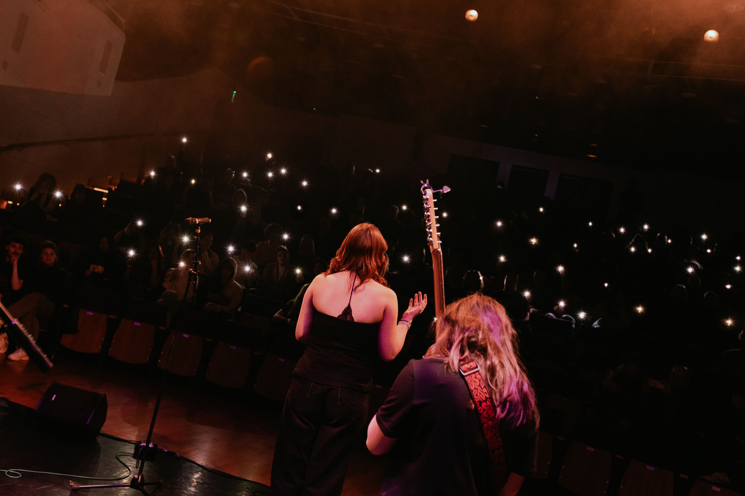
M 367 421 L 368 393 L 294 378 L 274 447 L 273 496 L 338 496 Z

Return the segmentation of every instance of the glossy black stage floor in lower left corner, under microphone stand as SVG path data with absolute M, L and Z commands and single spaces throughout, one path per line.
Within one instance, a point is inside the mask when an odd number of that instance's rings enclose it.
M 63 439 L 37 428 L 35 412 L 17 403 L 0 399 L 0 469 L 22 468 L 76 474 L 92 477 L 120 477 L 127 469 L 116 461 L 116 454 L 132 453 L 134 445 L 99 435 L 95 439 L 80 441 Z M 164 448 L 168 448 L 165 446 Z M 136 473 L 135 460 L 121 457 Z M 212 473 L 176 454 L 159 452 L 155 461 L 145 466 L 148 480 L 162 480 L 162 486 L 150 494 L 158 496 L 264 496 L 269 488 L 264 484 L 238 479 L 229 474 Z M 222 475 L 221 475 L 222 474 Z M 131 477 L 120 482 L 129 481 Z M 112 495 L 133 496 L 140 494 L 129 488 L 80 490 L 71 492 L 73 483 L 104 484 L 98 480 L 70 479 L 46 474 L 23 473 L 11 479 L 0 472 L 0 495 L 60 496 L 60 495 Z

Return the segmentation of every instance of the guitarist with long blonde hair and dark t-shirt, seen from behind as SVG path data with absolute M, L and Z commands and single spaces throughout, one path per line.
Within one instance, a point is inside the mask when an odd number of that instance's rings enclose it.
M 367 428 L 373 454 L 390 451 L 381 495 L 515 496 L 536 473 L 539 412 L 504 307 L 483 294 L 448 305 L 425 358 L 399 373 Z M 460 373 L 475 361 L 504 461 L 491 456 L 474 397 Z M 478 376 L 476 376 L 478 377 Z M 488 424 L 487 424 L 488 425 Z M 447 454 L 447 456 L 443 456 Z

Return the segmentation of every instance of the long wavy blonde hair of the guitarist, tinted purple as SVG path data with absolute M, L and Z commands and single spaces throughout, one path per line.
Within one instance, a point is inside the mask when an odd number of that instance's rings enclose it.
M 459 372 L 463 359 L 481 368 L 494 401 L 497 419 L 516 426 L 539 413 L 533 384 L 517 355 L 518 337 L 504 306 L 483 294 L 454 301 L 435 324 L 435 341 L 426 357 L 445 361 L 446 370 Z

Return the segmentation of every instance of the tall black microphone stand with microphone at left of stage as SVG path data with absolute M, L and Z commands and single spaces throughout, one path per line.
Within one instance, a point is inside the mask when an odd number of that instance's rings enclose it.
M 187 219 L 190 220 L 190 219 Z M 197 219 L 194 219 L 197 220 Z M 198 219 L 198 221 L 201 222 L 210 222 L 209 219 Z M 199 280 L 199 235 L 201 232 L 201 228 L 199 223 L 197 223 L 197 228 L 194 230 L 194 239 L 197 241 L 197 248 L 194 251 L 194 264 L 188 271 L 188 278 L 186 280 L 186 290 L 184 291 L 184 297 L 179 303 L 178 309 L 176 310 L 176 313 L 174 315 L 174 318 L 171 319 L 171 322 L 168 323 L 167 328 L 165 329 L 165 335 L 167 336 L 166 339 L 168 339 L 168 336 L 171 335 L 171 332 L 173 332 L 174 329 L 174 323 L 177 322 L 178 318 L 181 315 L 181 312 L 183 311 L 184 307 L 186 306 L 186 298 L 188 297 L 189 289 L 191 289 L 191 303 L 197 303 L 197 283 Z M 139 492 L 142 492 L 145 496 L 150 496 L 150 493 L 145 491 L 146 486 L 160 486 L 162 483 L 162 480 L 153 480 L 150 482 L 145 481 L 145 476 L 142 474 L 142 472 L 145 470 L 145 462 L 152 462 L 155 460 L 155 455 L 158 452 L 158 445 L 151 442 L 153 439 L 153 431 L 155 430 L 155 421 L 158 418 L 158 410 L 160 408 L 160 400 L 163 397 L 163 389 L 165 388 L 165 379 L 166 376 L 168 376 L 168 366 L 171 364 L 171 355 L 173 355 L 174 351 L 174 344 L 176 343 L 176 335 L 174 333 L 174 338 L 171 340 L 171 344 L 168 345 L 168 355 L 165 359 L 165 368 L 163 369 L 163 376 L 160 379 L 160 383 L 158 385 L 158 397 L 155 400 L 155 407 L 153 407 L 153 418 L 150 419 L 150 429 L 148 430 L 148 439 L 146 439 L 144 442 L 139 441 L 137 442 L 137 445 L 135 446 L 135 452 L 134 457 L 137 460 L 136 467 L 138 467 L 137 474 L 135 474 L 132 477 L 132 480 L 128 483 L 121 483 L 121 484 L 95 484 L 92 486 L 78 486 L 77 484 L 72 486 L 73 491 L 77 491 L 77 489 L 102 489 L 102 488 L 116 488 L 116 487 L 130 487 L 132 489 L 136 489 Z

